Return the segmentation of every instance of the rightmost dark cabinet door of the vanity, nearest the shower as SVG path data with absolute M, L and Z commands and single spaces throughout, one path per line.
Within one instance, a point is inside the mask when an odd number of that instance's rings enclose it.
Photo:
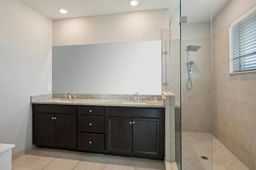
M 160 155 L 159 119 L 133 118 L 133 154 Z

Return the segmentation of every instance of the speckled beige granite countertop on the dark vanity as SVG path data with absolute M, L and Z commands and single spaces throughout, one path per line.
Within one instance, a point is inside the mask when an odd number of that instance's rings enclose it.
M 59 102 L 58 102 L 59 100 Z M 110 100 L 110 99 L 63 99 L 49 98 L 45 100 L 32 101 L 31 104 L 60 104 L 60 105 L 88 105 L 88 106 L 124 106 L 124 107 L 164 107 L 164 100 L 137 100 L 138 103 L 123 104 L 123 102 L 134 102 L 133 100 Z M 142 104 L 146 102 L 146 104 Z

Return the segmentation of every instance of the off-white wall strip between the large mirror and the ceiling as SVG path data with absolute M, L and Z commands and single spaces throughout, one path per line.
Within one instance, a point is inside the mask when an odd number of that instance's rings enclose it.
M 168 9 L 53 21 L 53 46 L 161 40 Z

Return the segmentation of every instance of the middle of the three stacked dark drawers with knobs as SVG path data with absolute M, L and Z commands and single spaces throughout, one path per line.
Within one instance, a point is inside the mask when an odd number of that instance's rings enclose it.
M 105 132 L 105 121 L 104 116 L 78 116 L 78 131 L 82 132 L 94 132 L 104 133 Z

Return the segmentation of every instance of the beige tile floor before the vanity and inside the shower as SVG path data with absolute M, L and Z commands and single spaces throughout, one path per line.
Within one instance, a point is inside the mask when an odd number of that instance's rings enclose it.
M 203 160 L 200 156 L 207 156 L 208 160 Z M 176 170 L 175 167 L 172 168 Z M 164 170 L 165 165 L 164 161 L 160 160 L 36 148 L 13 160 L 12 169 Z M 183 132 L 182 170 L 248 170 L 248 168 L 210 133 Z

